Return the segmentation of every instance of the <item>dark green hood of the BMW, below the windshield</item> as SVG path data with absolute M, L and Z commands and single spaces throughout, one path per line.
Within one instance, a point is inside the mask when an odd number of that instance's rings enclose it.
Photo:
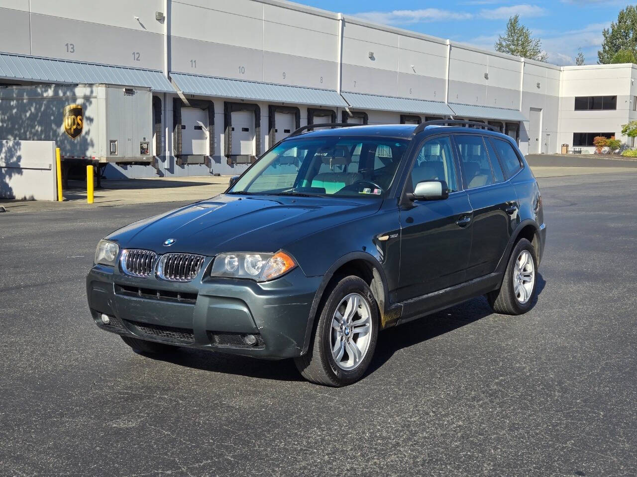
M 378 211 L 380 200 L 219 195 L 111 233 L 124 248 L 159 253 L 276 252 L 330 226 Z M 164 241 L 173 239 L 170 246 Z

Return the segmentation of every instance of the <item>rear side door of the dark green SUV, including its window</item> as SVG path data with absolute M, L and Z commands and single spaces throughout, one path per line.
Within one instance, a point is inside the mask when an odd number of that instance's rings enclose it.
M 473 209 L 473 236 L 466 280 L 496 270 L 517 218 L 517 195 L 505 180 L 488 137 L 457 134 L 462 183 Z

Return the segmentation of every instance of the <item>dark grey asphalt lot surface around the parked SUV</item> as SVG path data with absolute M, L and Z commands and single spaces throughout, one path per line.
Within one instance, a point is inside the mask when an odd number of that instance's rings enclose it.
M 175 204 L 0 214 L 0 475 L 634 476 L 637 174 L 540 186 L 533 310 L 479 298 L 390 329 L 343 389 L 97 329 L 97 240 Z

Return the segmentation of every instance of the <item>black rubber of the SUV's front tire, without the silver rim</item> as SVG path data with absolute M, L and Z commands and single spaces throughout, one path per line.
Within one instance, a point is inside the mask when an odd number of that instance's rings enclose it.
M 323 301 L 319 308 L 317 324 L 312 335 L 310 349 L 303 356 L 294 359 L 297 369 L 306 380 L 315 384 L 341 387 L 352 384 L 362 378 L 376 349 L 378 340 L 378 326 L 380 324 L 378 304 L 371 294 L 368 284 L 359 277 L 351 275 L 341 279 Z M 369 316 L 371 317 L 371 331 L 369 331 L 369 346 L 365 356 L 353 370 L 343 370 L 334 361 L 330 349 L 330 337 L 332 333 L 332 320 L 336 308 L 341 300 L 350 293 L 357 293 L 367 301 Z M 353 335 L 352 335 L 353 336 Z

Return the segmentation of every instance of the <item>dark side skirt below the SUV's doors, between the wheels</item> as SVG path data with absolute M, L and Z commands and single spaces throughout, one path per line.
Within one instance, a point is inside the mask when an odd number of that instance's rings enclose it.
M 502 283 L 503 273 L 495 272 L 470 280 L 459 285 L 434 291 L 412 300 L 403 301 L 400 305 L 403 313 L 397 324 L 403 324 L 426 315 L 452 307 L 489 291 L 497 289 Z

